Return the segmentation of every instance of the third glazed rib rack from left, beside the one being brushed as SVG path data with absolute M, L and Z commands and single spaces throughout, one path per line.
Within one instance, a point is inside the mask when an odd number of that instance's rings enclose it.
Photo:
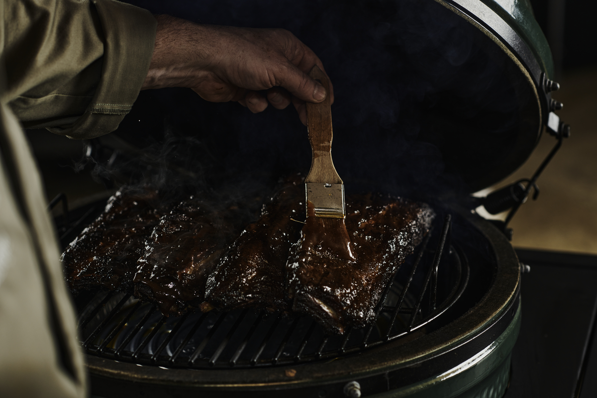
M 304 218 L 304 178 L 297 175 L 285 181 L 259 220 L 247 226 L 220 259 L 207 283 L 210 306 L 290 309 L 284 291 L 285 266 L 303 226 L 298 217 Z

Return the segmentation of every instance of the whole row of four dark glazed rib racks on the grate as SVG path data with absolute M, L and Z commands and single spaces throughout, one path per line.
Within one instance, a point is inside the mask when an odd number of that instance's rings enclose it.
M 233 209 L 186 200 L 162 215 L 156 198 L 155 191 L 110 198 L 63 254 L 73 290 L 132 291 L 134 276 L 136 296 L 165 315 L 269 308 L 310 314 L 328 333 L 342 333 L 374 319 L 384 287 L 433 219 L 426 205 L 365 195 L 347 198 L 344 220 L 315 217 L 310 204 L 303 226 L 298 176 L 240 236 L 244 221 Z

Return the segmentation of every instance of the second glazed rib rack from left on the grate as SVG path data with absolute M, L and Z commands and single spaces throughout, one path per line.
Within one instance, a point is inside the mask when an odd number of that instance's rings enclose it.
M 199 200 L 186 200 L 164 215 L 137 263 L 135 295 L 155 303 L 162 314 L 179 315 L 198 306 L 205 283 L 223 248 L 233 239 L 232 224 Z

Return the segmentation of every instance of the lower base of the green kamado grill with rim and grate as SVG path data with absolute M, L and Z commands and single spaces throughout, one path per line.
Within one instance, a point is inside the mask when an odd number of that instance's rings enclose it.
M 489 246 L 456 243 L 451 229 Z M 494 227 L 448 215 L 387 286 L 376 322 L 340 336 L 325 335 L 310 317 L 267 310 L 165 317 L 104 290 L 76 301 L 100 396 L 277 396 L 281 388 L 291 396 L 370 396 L 388 387 L 445 396 L 479 373 L 483 388 L 503 392 L 519 328 L 519 265 Z M 463 357 L 472 360 L 465 366 Z M 459 381 L 436 385 L 451 373 Z

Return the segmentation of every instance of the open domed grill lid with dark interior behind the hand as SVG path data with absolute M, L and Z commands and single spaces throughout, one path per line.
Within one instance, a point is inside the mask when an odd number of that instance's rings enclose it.
M 552 55 L 527 1 L 278 4 L 255 0 L 223 8 L 205 1 L 150 11 L 282 27 L 311 47 L 334 82 L 334 164 L 351 187 L 373 181 L 375 189 L 401 196 L 437 196 L 435 187 L 446 184 L 438 176 L 447 172 L 475 192 L 521 166 L 544 127 L 551 134 L 562 128 L 552 112 L 559 106 L 550 94 L 557 86 L 549 80 Z M 347 21 L 358 21 L 359 29 Z M 117 134 L 143 147 L 148 137 L 162 140 L 168 128 L 199 137 L 227 167 L 307 170 L 306 130 L 291 111 L 253 115 L 186 91 L 150 90 L 141 92 Z M 226 153 L 216 153 L 218 147 Z

